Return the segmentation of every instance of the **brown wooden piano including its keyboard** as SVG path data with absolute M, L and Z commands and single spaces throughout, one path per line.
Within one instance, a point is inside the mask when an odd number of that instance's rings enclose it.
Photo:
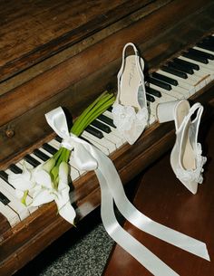
M 173 123 L 156 118 L 159 102 L 200 101 L 203 119 L 213 114 L 213 14 L 211 0 L 0 1 L 1 275 L 14 274 L 72 227 L 53 203 L 22 206 L 7 183 L 24 160 L 34 167 L 60 147 L 44 114 L 62 106 L 75 119 L 103 90 L 116 91 L 122 48 L 135 43 L 146 62 L 148 128 L 130 146 L 107 110 L 83 133 L 112 158 L 125 185 L 173 145 Z M 71 166 L 80 220 L 100 205 L 100 188 L 93 172 L 79 171 L 73 159 Z

